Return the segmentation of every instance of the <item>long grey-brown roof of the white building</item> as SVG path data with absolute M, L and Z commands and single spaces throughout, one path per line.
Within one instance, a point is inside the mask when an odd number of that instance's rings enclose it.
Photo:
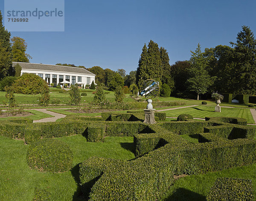
M 50 64 L 41 64 L 41 63 L 24 63 L 24 62 L 12 62 L 12 66 L 19 64 L 22 70 L 41 70 L 41 71 L 54 71 L 54 72 L 70 72 L 70 73 L 79 73 L 86 75 L 94 75 L 93 73 L 87 71 L 84 68 L 79 67 L 70 67 L 70 66 L 58 66 Z

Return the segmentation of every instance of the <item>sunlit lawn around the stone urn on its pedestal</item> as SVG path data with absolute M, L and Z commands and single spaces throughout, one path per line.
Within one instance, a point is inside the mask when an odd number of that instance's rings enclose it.
M 247 119 L 247 123 L 255 123 L 250 109 L 241 108 L 221 108 L 221 112 L 214 112 L 212 106 L 194 106 L 183 109 L 174 109 L 166 112 L 168 117 L 177 117 L 180 114 L 190 114 L 195 118 L 205 117 L 239 117 Z

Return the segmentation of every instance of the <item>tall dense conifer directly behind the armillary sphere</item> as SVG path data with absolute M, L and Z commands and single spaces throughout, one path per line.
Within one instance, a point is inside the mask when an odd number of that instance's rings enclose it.
M 137 68 L 136 83 L 140 86 L 144 80 L 154 79 L 160 81 L 162 78 L 162 65 L 158 44 L 150 40 L 148 48 L 143 46 Z

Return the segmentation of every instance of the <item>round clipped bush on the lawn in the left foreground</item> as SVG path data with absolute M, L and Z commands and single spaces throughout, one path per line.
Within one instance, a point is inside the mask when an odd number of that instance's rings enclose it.
M 65 172 L 73 162 L 73 153 L 66 143 L 49 138 L 32 143 L 27 152 L 29 167 L 42 172 Z

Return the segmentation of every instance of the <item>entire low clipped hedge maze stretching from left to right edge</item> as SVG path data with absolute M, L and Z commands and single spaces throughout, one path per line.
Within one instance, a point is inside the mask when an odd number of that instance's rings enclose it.
M 0 125 L 0 135 L 25 138 L 27 143 L 68 135 L 84 135 L 92 142 L 104 141 L 105 136 L 134 136 L 134 160 L 92 157 L 80 164 L 81 189 L 90 201 L 159 200 L 173 184 L 173 175 L 218 171 L 256 162 L 255 128 L 247 126 L 244 119 L 158 121 L 149 125 L 131 121 L 130 115 L 138 118 L 137 114 L 125 115 L 103 114 L 103 121 L 67 116 L 56 123 L 5 122 Z M 104 121 L 111 118 L 119 121 Z M 186 141 L 182 135 L 196 135 L 198 143 Z

